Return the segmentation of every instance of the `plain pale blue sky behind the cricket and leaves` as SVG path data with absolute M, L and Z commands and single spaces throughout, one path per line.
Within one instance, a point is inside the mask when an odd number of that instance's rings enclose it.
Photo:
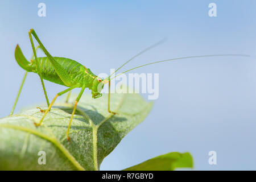
M 40 2 L 46 3 L 46 17 L 38 16 Z M 217 17 L 210 18 L 212 2 Z M 30 28 L 51 55 L 77 60 L 96 75 L 118 68 L 164 37 L 167 42 L 122 70 L 181 56 L 245 53 L 251 57 L 187 59 L 137 69 L 159 73 L 159 98 L 101 169 L 119 170 L 167 152 L 188 151 L 197 170 L 255 170 L 255 5 L 253 0 L 1 1 L 0 117 L 10 113 L 24 75 L 14 59 L 16 44 L 27 59 L 32 55 Z M 45 84 L 49 100 L 64 90 Z M 28 73 L 15 112 L 44 102 L 38 75 Z M 211 166 L 212 150 L 217 165 Z

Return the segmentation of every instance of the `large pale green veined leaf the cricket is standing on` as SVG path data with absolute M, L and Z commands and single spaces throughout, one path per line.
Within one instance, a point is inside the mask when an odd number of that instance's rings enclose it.
M 152 102 L 145 102 L 139 94 L 112 94 L 110 104 L 117 115 L 108 113 L 106 95 L 96 100 L 82 96 L 71 126 L 71 143 L 65 134 L 73 104 L 56 104 L 39 127 L 34 125 L 43 116 L 39 109 L 0 119 L 0 169 L 98 170 L 152 107 Z M 45 165 L 38 164 L 39 151 L 46 152 Z

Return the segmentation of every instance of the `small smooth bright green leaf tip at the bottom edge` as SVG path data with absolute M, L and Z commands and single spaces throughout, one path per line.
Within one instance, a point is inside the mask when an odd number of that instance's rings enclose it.
M 192 156 L 186 153 L 171 152 L 146 160 L 141 164 L 124 169 L 125 171 L 174 171 L 176 168 L 192 168 Z

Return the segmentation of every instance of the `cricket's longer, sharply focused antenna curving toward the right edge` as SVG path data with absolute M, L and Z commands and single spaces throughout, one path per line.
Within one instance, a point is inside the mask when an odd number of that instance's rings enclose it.
M 131 71 L 133 69 L 141 68 L 141 67 L 144 67 L 144 66 L 147 66 L 147 65 L 150 65 L 150 64 L 163 63 L 163 62 L 166 62 L 166 61 L 173 61 L 173 60 L 178 60 L 178 59 L 189 59 L 189 58 L 198 58 L 198 57 L 216 57 L 216 56 L 243 56 L 243 57 L 250 57 L 250 55 L 242 55 L 242 54 L 202 55 L 202 56 L 177 57 L 177 58 L 174 58 L 174 59 L 167 59 L 167 60 L 162 60 L 162 61 L 155 61 L 155 62 L 148 63 L 148 64 L 143 64 L 143 65 L 140 65 L 138 67 L 128 69 L 125 72 L 119 73 L 117 76 L 119 76 L 119 75 L 121 75 L 123 73 L 129 72 L 129 71 Z M 117 77 L 117 76 L 115 76 L 115 77 Z M 113 77 L 113 78 L 115 78 L 115 77 Z M 111 78 L 110 80 L 112 80 L 113 78 Z

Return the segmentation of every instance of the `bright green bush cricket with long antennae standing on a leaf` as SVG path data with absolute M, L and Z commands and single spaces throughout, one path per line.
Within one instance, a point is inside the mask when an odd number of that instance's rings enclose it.
M 32 35 L 34 36 L 36 41 L 39 43 L 39 46 L 36 48 L 34 46 Z M 110 110 L 110 80 L 121 75 L 122 73 L 126 73 L 133 69 L 141 68 L 141 67 L 144 67 L 144 66 L 150 65 L 150 64 L 163 63 L 166 61 L 179 60 L 179 59 L 188 59 L 188 58 L 195 58 L 195 57 L 211 57 L 211 56 L 248 56 L 248 55 L 238 55 L 238 54 L 226 54 L 226 55 L 203 55 L 203 56 L 178 57 L 175 59 L 155 61 L 152 63 L 140 65 L 138 67 L 135 67 L 135 68 L 129 69 L 125 72 L 122 72 L 115 77 L 111 78 L 111 76 L 113 75 L 112 74 L 109 77 L 102 79 L 102 78 L 98 77 L 97 75 L 94 75 L 92 73 L 92 71 L 90 71 L 89 68 L 86 68 L 84 65 L 78 63 L 75 60 L 71 60 L 71 59 L 64 58 L 64 57 L 51 56 L 49 54 L 49 52 L 47 51 L 47 49 L 43 46 L 42 42 L 38 38 L 38 35 L 36 35 L 36 32 L 33 29 L 31 29 L 28 32 L 28 36 L 30 38 L 30 42 L 31 42 L 31 46 L 33 49 L 33 54 L 34 54 L 32 56 L 32 59 L 30 62 L 27 61 L 27 59 L 24 57 L 19 45 L 17 45 L 15 48 L 15 59 L 16 59 L 17 63 L 20 65 L 20 67 L 22 67 L 24 70 L 26 70 L 26 73 L 24 75 L 22 84 L 21 84 L 19 92 L 18 92 L 18 96 L 16 97 L 15 104 L 13 106 L 13 110 L 11 111 L 11 114 L 13 114 L 13 111 L 15 109 L 16 102 L 18 101 L 20 91 L 22 90 L 24 80 L 27 76 L 27 72 L 34 72 L 39 75 L 40 81 L 42 82 L 44 95 L 46 97 L 46 101 L 47 101 L 47 105 L 48 105 L 47 110 L 41 110 L 44 113 L 44 115 L 43 115 L 42 119 L 40 119 L 39 123 L 34 123 L 35 126 L 40 126 L 42 124 L 44 118 L 46 117 L 46 114 L 50 111 L 50 109 L 57 97 L 63 95 L 64 93 L 71 91 L 72 89 L 81 88 L 81 91 L 75 100 L 75 105 L 73 107 L 73 112 L 72 112 L 71 119 L 70 119 L 69 125 L 68 125 L 68 130 L 67 130 L 66 135 L 67 135 L 67 139 L 69 141 L 71 140 L 71 138 L 69 137 L 69 129 L 71 127 L 73 115 L 75 114 L 77 103 L 79 102 L 82 94 L 84 93 L 85 88 L 92 90 L 92 98 L 95 99 L 95 98 L 99 98 L 102 96 L 101 90 L 103 89 L 105 84 L 109 84 L 108 85 L 109 86 L 108 111 L 110 114 L 117 114 L 114 111 Z M 146 52 L 148 49 L 151 49 L 152 47 L 155 47 L 162 42 L 163 41 L 160 41 L 160 42 L 144 49 L 143 51 L 139 52 L 137 55 L 133 56 L 131 59 L 127 60 L 124 64 L 122 64 L 121 67 L 119 67 L 115 72 L 117 72 L 125 64 L 129 63 L 129 61 L 133 60 L 135 57 L 141 55 L 143 52 Z M 36 50 L 38 48 L 42 49 L 42 51 L 46 54 L 46 57 L 36 56 Z M 53 98 L 52 102 L 49 103 L 47 93 L 46 93 L 46 88 L 44 86 L 43 80 L 48 80 L 48 81 L 54 82 L 56 84 L 64 85 L 64 86 L 67 86 L 68 88 L 63 90 L 62 92 L 57 93 L 56 96 Z

